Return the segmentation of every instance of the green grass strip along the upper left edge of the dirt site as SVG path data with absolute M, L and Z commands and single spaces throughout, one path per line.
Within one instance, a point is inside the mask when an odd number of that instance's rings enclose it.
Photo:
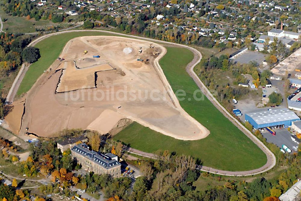
M 29 91 L 44 70 L 48 69 L 54 60 L 61 54 L 61 51 L 69 40 L 78 36 L 92 35 L 98 36 L 108 34 L 101 32 L 71 32 L 51 36 L 37 43 L 35 47 L 40 49 L 41 58 L 36 63 L 30 65 L 17 91 L 17 96 Z

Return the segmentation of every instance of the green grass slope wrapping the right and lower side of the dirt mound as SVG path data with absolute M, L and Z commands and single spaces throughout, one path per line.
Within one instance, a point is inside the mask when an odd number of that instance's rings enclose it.
M 180 101 L 181 106 L 206 126 L 211 132 L 210 135 L 198 141 L 181 141 L 133 123 L 114 136 L 114 139 L 146 152 L 161 149 L 192 155 L 201 159 L 203 165 L 217 169 L 242 171 L 261 167 L 267 159 L 259 147 L 223 116 L 206 97 L 203 101 L 193 99 L 192 94 L 198 87 L 185 71 L 185 66 L 192 58 L 193 54 L 187 49 L 167 48 L 167 54 L 160 60 L 160 65 L 173 90 L 186 91 L 187 98 Z M 189 97 L 191 101 L 188 101 Z

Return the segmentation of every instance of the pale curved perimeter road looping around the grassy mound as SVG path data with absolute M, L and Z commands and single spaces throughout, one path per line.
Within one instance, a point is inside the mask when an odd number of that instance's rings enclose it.
M 104 32 L 104 33 L 110 33 L 110 34 L 119 35 L 119 36 L 126 36 L 126 37 L 129 37 L 129 38 L 143 39 L 143 40 L 148 40 L 148 41 L 154 41 L 154 42 L 157 42 L 157 43 L 165 43 L 165 44 L 169 44 L 169 45 L 175 45 L 175 46 L 178 46 L 178 47 L 187 48 L 187 49 L 189 49 L 190 51 L 192 51 L 194 53 L 194 59 L 186 67 L 186 71 L 188 72 L 188 74 L 191 76 L 191 78 L 194 80 L 194 82 L 198 85 L 200 90 L 212 102 L 212 104 L 220 112 L 222 112 L 234 125 L 236 125 L 237 128 L 239 128 L 245 135 L 247 135 L 247 137 L 250 138 L 267 156 L 267 162 L 266 162 L 265 165 L 263 165 L 262 167 L 260 167 L 258 169 L 249 170 L 249 171 L 232 172 L 232 171 L 224 171 L 224 170 L 213 169 L 213 168 L 206 167 L 206 166 L 199 166 L 198 169 L 200 169 L 201 171 L 210 172 L 210 173 L 218 174 L 218 175 L 225 175 L 225 176 L 250 176 L 250 175 L 256 175 L 256 174 L 260 174 L 262 172 L 266 172 L 266 171 L 272 169 L 276 165 L 276 157 L 274 156 L 274 154 L 258 138 L 256 138 L 256 136 L 254 136 L 237 119 L 235 119 L 224 107 L 222 107 L 222 105 L 216 100 L 216 98 L 206 88 L 206 86 L 203 84 L 203 82 L 201 82 L 201 80 L 199 79 L 197 74 L 194 73 L 194 70 L 193 70 L 194 67 L 202 59 L 202 54 L 198 50 L 196 50 L 195 48 L 192 48 L 192 47 L 189 47 L 189 46 L 186 46 L 186 45 L 182 45 L 182 44 L 172 43 L 172 42 L 165 42 L 165 41 L 160 41 L 160 40 L 156 40 L 156 39 L 147 39 L 147 38 L 140 37 L 140 36 L 131 36 L 131 35 L 126 35 L 126 34 L 116 33 L 116 32 L 110 32 L 110 31 L 104 31 L 104 30 L 72 30 L 72 31 L 62 31 L 62 32 L 51 33 L 51 34 L 48 34 L 48 35 L 41 36 L 41 37 L 37 38 L 36 40 L 31 42 L 28 46 L 35 45 L 39 41 L 41 41 L 45 38 L 48 38 L 50 36 L 54 36 L 54 35 L 58 35 L 58 34 L 62 34 L 62 33 L 68 33 L 68 32 L 85 32 L 85 31 Z M 23 69 L 23 68 L 24 67 L 22 66 L 20 71 L 24 71 L 25 69 Z M 12 86 L 12 88 L 13 87 L 14 86 Z M 139 154 L 143 154 L 144 156 L 154 157 L 153 154 L 145 153 L 145 152 L 142 152 L 142 151 L 139 151 L 139 150 L 131 149 L 131 151 L 132 151 L 132 153 L 139 153 Z

